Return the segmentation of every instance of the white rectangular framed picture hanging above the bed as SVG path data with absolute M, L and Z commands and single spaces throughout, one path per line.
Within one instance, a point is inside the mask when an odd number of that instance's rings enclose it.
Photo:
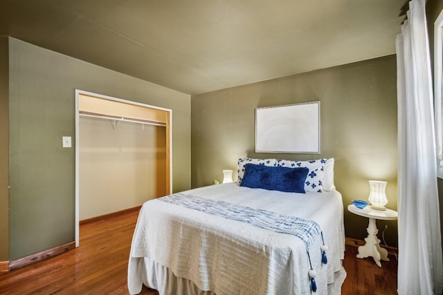
M 255 108 L 255 153 L 320 153 L 320 102 Z

